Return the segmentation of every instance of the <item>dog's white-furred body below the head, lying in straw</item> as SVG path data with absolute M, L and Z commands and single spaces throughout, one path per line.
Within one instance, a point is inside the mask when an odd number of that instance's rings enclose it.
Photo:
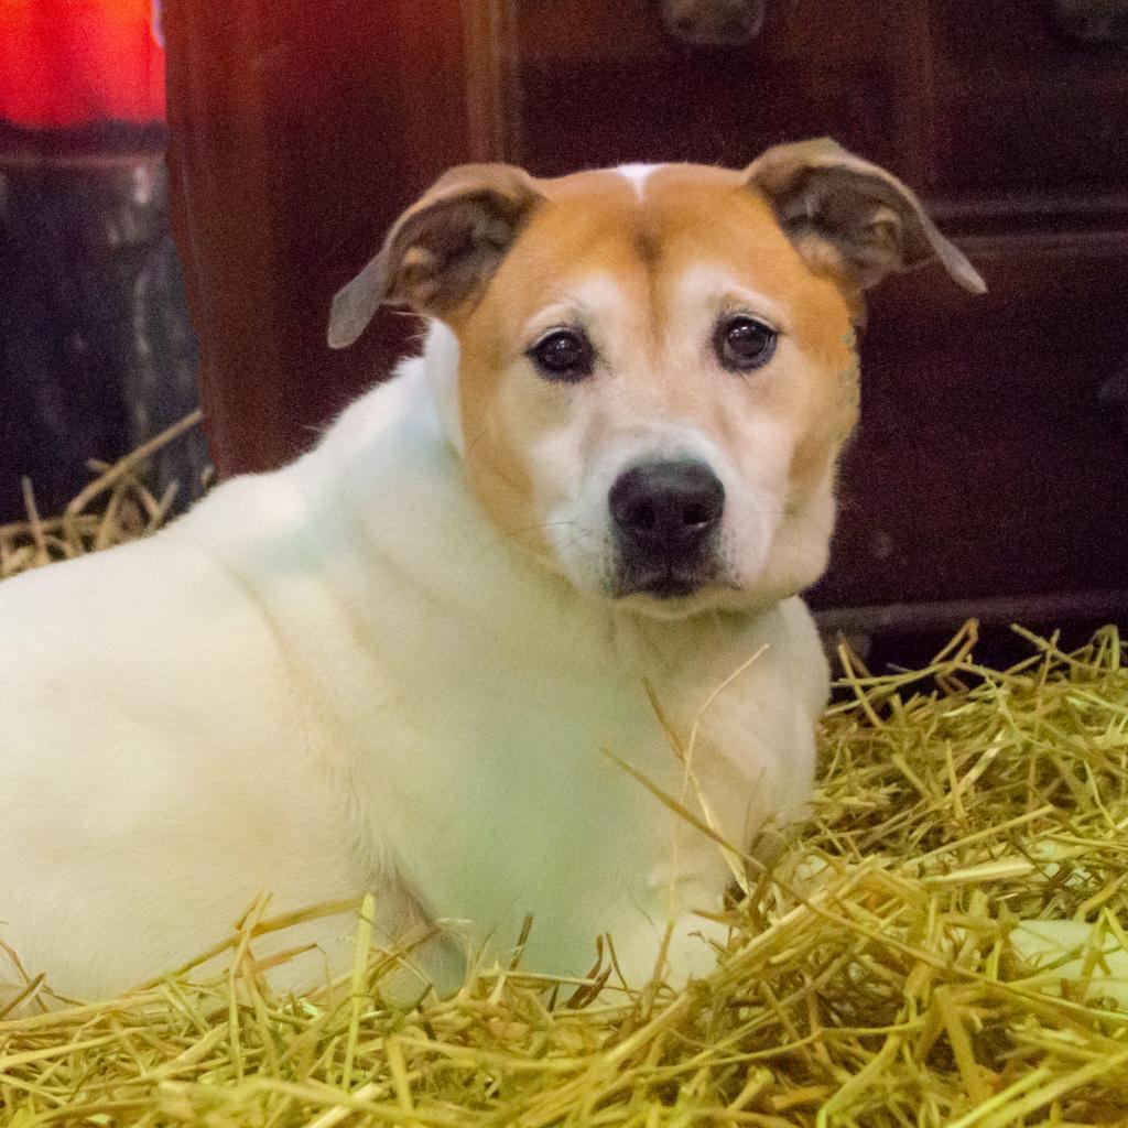
M 672 917 L 675 973 L 711 964 L 694 934 L 717 926 L 691 910 L 720 906 L 721 851 L 603 751 L 682 794 L 645 684 L 685 735 L 767 646 L 694 769 L 735 841 L 794 816 L 827 691 L 810 616 L 636 617 L 527 556 L 467 487 L 443 333 L 292 465 L 0 584 L 0 940 L 29 975 L 109 995 L 262 891 L 272 914 L 372 891 L 382 935 L 453 918 L 486 954 L 532 914 L 525 966 L 556 973 L 610 932 L 635 982 Z M 318 944 L 272 972 L 308 986 L 349 966 L 352 925 L 255 951 Z M 424 958 L 446 989 L 452 952 Z

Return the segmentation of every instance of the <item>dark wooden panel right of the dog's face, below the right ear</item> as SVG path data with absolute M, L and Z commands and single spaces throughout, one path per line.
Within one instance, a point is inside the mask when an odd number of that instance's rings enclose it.
M 976 240 L 990 292 L 873 303 L 863 423 L 820 606 L 1128 587 L 1128 233 Z

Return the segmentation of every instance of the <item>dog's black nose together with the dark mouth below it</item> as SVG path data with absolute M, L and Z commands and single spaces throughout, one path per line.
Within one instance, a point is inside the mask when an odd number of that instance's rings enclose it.
M 618 550 L 616 594 L 671 599 L 713 579 L 724 486 L 699 461 L 646 462 L 608 494 Z

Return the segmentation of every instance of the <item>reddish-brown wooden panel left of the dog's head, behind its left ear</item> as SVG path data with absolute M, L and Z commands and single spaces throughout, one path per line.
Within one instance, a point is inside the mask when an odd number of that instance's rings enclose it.
M 385 374 L 415 323 L 325 345 L 329 299 L 473 155 L 457 0 L 166 5 L 173 223 L 222 474 L 273 467 Z

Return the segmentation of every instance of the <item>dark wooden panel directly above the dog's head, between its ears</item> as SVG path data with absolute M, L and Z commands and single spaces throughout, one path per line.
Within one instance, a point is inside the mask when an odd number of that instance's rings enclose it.
M 919 6 L 768 6 L 735 51 L 687 47 L 647 0 L 525 0 L 511 155 L 534 171 L 632 160 L 740 166 L 766 146 L 830 133 L 902 175 L 929 160 Z M 909 144 L 908 139 L 924 144 Z

